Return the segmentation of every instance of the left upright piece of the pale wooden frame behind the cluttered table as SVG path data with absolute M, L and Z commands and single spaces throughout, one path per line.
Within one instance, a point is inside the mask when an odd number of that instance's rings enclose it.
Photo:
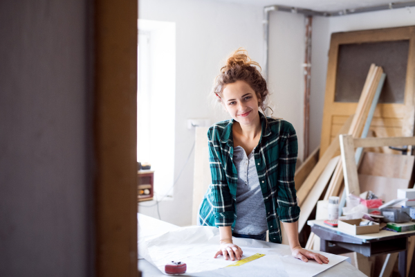
M 346 188 L 346 195 L 349 195 L 350 193 L 360 195 L 358 168 L 356 167 L 353 137 L 351 135 L 340 135 L 340 150 L 342 151 L 344 188 Z

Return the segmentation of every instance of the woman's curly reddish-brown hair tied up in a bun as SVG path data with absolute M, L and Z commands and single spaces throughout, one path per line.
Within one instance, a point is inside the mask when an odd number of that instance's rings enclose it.
M 228 57 L 228 60 L 221 68 L 221 73 L 214 79 L 213 92 L 217 96 L 217 100 L 221 102 L 223 89 L 226 84 L 232 84 L 238 80 L 247 82 L 250 87 L 257 93 L 259 100 L 259 107 L 264 111 L 266 109 L 266 97 L 268 96 L 268 89 L 266 87 L 266 80 L 262 77 L 260 71 L 261 66 L 257 62 L 251 60 L 248 56 L 248 51 L 243 48 L 238 48 Z

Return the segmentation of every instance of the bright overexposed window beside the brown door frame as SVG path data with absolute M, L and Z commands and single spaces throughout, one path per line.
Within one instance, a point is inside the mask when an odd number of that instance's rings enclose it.
M 137 161 L 151 163 L 154 193 L 174 180 L 176 24 L 138 19 Z M 172 195 L 173 190 L 169 190 Z

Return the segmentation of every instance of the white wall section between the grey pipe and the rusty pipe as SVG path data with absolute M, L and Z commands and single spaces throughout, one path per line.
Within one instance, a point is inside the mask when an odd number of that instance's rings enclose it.
M 292 123 L 304 151 L 304 15 L 270 12 L 268 87 L 273 116 Z M 268 111 L 267 111 L 268 112 Z

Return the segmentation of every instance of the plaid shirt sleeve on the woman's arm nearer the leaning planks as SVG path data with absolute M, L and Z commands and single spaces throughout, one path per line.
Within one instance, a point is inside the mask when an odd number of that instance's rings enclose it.
M 299 218 L 299 206 L 297 205 L 294 175 L 298 145 L 295 129 L 290 123 L 288 125 L 287 132 L 282 134 L 282 149 L 279 152 L 278 215 L 282 222 L 296 222 Z

